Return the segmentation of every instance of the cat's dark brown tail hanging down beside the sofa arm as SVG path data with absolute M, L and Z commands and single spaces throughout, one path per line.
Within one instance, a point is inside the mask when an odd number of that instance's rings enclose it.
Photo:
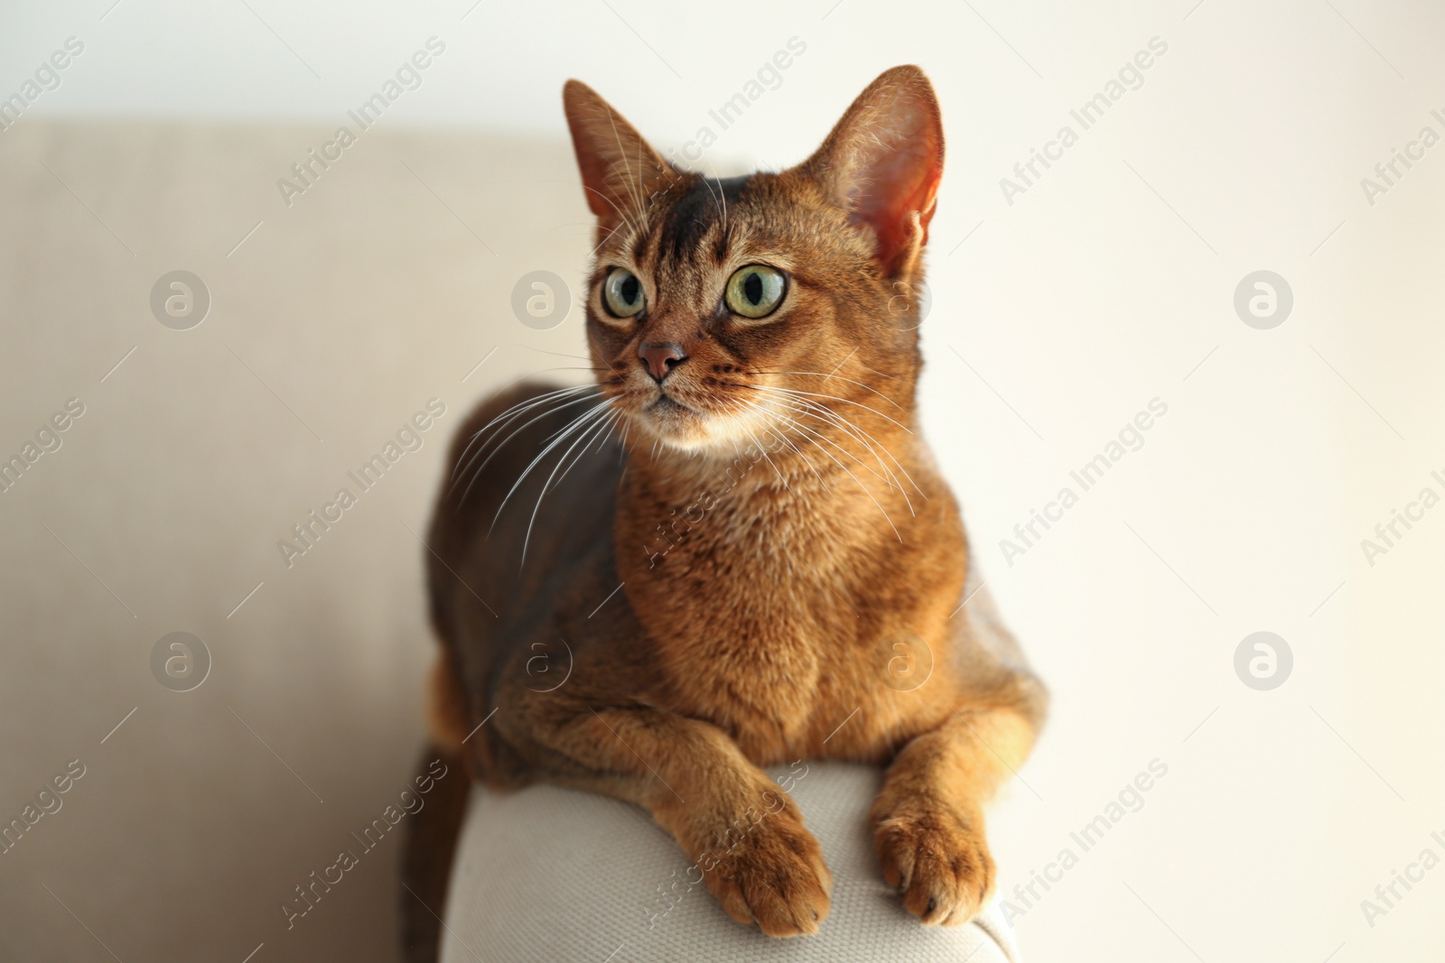
M 445 770 L 438 767 L 445 765 Z M 436 778 L 436 772 L 447 775 Z M 426 804 L 406 820 L 402 855 L 402 960 L 436 963 L 441 959 L 442 915 L 457 839 L 467 816 L 471 775 L 461 752 L 429 739 L 418 765 L 418 785 L 432 780 Z

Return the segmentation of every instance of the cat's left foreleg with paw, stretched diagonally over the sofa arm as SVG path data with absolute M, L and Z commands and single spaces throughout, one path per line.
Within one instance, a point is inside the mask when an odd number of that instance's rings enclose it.
M 738 923 L 775 937 L 818 931 L 832 889 L 822 849 L 727 733 L 653 709 L 579 709 L 561 725 L 529 726 L 530 739 L 572 764 L 551 781 L 643 806 L 688 855 L 686 878 L 701 878 Z

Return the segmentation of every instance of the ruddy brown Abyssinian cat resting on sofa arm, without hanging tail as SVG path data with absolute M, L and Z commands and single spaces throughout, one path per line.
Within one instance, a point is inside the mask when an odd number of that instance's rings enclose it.
M 564 103 L 597 215 L 595 384 L 507 391 L 457 437 L 429 536 L 434 739 L 494 787 L 644 807 L 777 937 L 818 930 L 831 878 L 760 767 L 886 765 L 881 873 L 923 923 L 964 923 L 994 876 L 983 806 L 1046 693 L 972 595 L 919 436 L 932 85 L 890 69 L 812 157 L 730 179 L 577 81 Z

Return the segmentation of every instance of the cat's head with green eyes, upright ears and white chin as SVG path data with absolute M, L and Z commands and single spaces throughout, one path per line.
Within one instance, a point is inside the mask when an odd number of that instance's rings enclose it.
M 564 103 L 598 222 L 588 342 L 630 427 L 731 455 L 789 420 L 816 427 L 819 407 L 912 420 L 944 169 L 920 69 L 879 77 L 796 167 L 722 180 L 663 160 L 578 81 Z

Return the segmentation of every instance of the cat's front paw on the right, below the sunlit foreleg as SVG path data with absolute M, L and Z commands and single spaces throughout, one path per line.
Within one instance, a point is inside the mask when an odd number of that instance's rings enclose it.
M 905 806 L 874 820 L 873 846 L 883 878 L 903 908 L 928 925 L 959 925 L 978 915 L 993 891 L 994 865 L 980 814 L 941 806 Z

